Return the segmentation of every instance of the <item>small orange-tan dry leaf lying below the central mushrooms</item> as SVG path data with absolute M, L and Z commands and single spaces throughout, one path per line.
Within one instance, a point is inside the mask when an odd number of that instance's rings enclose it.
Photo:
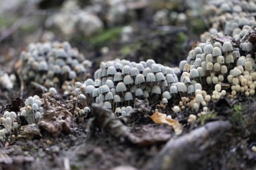
M 179 123 L 179 121 L 167 118 L 166 114 L 162 114 L 158 112 L 158 110 L 155 110 L 154 114 L 152 114 L 150 118 L 156 124 L 167 124 L 168 126 L 171 126 L 174 129 L 175 134 L 177 135 L 181 134 L 183 131 L 183 126 Z

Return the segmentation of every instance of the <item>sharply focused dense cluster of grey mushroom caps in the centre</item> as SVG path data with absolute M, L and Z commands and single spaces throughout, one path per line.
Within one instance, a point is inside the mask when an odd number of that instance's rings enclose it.
M 164 67 L 152 59 L 139 63 L 108 60 L 100 63 L 100 69 L 94 73 L 94 80 L 76 82 L 71 94 L 73 99 L 79 101 L 103 102 L 104 107 L 113 111 L 132 105 L 135 97 L 149 97 L 151 103 L 162 97 L 167 103 L 170 98 L 184 91 L 183 84 L 178 83 L 176 73 L 179 73 L 178 68 Z M 123 109 L 120 113 L 127 110 Z

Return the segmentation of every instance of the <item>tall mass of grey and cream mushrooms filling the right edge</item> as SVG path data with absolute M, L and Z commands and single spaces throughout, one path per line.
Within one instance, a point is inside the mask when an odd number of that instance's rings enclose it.
M 201 34 L 202 43 L 190 50 L 187 59 L 179 64 L 183 71 L 180 81 L 195 92 L 195 98 L 181 98 L 181 110 L 190 107 L 198 111 L 202 105 L 200 114 L 207 114 L 205 104 L 211 100 L 226 95 L 255 94 L 255 56 L 249 41 L 250 34 L 255 32 L 255 17 L 251 15 L 255 11 L 254 1 L 207 2 L 204 13 L 212 28 Z M 197 83 L 203 90 L 193 89 Z

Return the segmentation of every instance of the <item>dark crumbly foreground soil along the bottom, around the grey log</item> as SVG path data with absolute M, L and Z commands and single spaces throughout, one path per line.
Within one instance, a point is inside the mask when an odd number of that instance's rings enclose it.
M 246 120 L 245 125 L 238 123 L 240 127 L 235 127 L 234 123 L 231 129 L 214 132 L 203 143 L 197 143 L 200 141 L 198 138 L 189 148 L 182 146 L 182 149 L 187 150 L 183 155 L 177 152 L 175 157 L 180 164 L 177 163 L 175 169 L 255 169 L 256 153 L 251 150 L 256 137 L 255 102 L 255 99 L 247 99 L 236 103 L 245 108 L 242 113 Z M 214 120 L 208 121 L 220 120 L 228 120 L 228 117 L 220 114 Z M 106 132 L 88 134 L 84 126 L 82 124 L 75 127 L 70 134 L 61 134 L 57 138 L 43 132 L 38 139 L 1 142 L 1 169 L 112 169 L 118 166 L 164 169 L 162 165 L 157 165 L 156 160 L 162 153 L 161 149 L 166 147 L 167 140 L 143 146 L 114 138 Z M 195 127 L 185 126 L 183 134 L 175 136 L 172 128 L 164 125 L 148 123 L 129 126 L 141 138 L 150 136 L 149 132 L 164 132 L 169 135 L 169 142 L 192 134 L 200 127 L 203 126 L 199 123 Z M 221 136 L 217 137 L 218 134 Z M 179 147 L 176 149 L 179 150 Z M 163 159 L 170 159 L 168 162 L 172 162 L 168 153 L 164 154 Z

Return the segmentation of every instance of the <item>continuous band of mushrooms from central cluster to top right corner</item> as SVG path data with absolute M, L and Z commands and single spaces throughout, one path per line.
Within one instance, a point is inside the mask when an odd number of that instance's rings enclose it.
M 119 114 L 125 113 L 123 107 L 132 105 L 135 97 L 162 99 L 162 103 L 168 103 L 178 95 L 181 101 L 179 108 L 173 105 L 174 112 L 185 110 L 187 106 L 197 112 L 202 106 L 200 114 L 205 114 L 205 106 L 211 100 L 236 97 L 237 94 L 254 95 L 255 57 L 249 34 L 256 26 L 255 17 L 251 15 L 256 11 L 255 1 L 207 3 L 203 12 L 212 28 L 201 34 L 203 43 L 189 51 L 187 59 L 180 62 L 180 70 L 156 64 L 154 60 L 139 63 L 109 60 L 100 64 L 94 81 L 77 83 L 73 95 L 78 99 L 86 99 L 87 95 L 91 101 L 104 102 L 106 108 Z M 232 40 L 238 41 L 239 46 Z M 182 73 L 179 81 L 175 73 Z M 190 96 L 195 98 L 191 100 Z

